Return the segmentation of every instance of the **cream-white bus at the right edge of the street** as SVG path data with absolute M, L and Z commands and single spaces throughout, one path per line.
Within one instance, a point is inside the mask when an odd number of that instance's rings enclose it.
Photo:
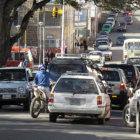
M 123 60 L 132 56 L 140 56 L 140 39 L 126 39 L 124 41 Z

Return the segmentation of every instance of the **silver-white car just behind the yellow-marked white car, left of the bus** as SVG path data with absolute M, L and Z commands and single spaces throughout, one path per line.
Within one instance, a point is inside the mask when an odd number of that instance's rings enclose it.
M 107 45 L 99 45 L 97 49 L 103 52 L 105 60 L 112 60 L 112 51 Z

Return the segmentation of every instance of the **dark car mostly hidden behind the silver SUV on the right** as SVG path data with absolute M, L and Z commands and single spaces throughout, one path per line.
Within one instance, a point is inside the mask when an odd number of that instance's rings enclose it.
M 133 86 L 135 87 L 137 82 L 139 81 L 139 70 L 136 66 L 128 65 L 128 64 L 106 64 L 104 67 L 110 68 L 120 68 L 124 70 L 124 73 L 127 78 L 127 83 L 133 82 Z

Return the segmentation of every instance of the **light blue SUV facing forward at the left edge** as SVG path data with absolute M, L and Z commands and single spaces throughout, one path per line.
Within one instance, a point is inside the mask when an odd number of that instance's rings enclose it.
M 33 95 L 32 73 L 29 68 L 0 68 L 0 107 L 2 105 L 23 105 L 29 109 Z

